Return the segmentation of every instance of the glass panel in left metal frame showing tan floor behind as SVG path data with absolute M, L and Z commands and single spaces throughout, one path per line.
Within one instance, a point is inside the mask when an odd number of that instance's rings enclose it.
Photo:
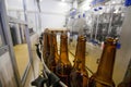
M 25 25 L 9 23 L 11 38 L 13 44 L 13 50 L 15 54 L 15 60 L 19 69 L 21 79 L 24 76 L 25 70 L 28 65 L 28 48 L 25 37 Z

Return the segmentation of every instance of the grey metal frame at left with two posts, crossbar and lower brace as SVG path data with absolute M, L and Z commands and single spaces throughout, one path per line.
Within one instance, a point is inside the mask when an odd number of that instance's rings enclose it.
M 28 27 L 27 27 L 27 23 L 26 23 L 27 21 L 25 20 L 25 22 L 24 22 L 24 21 L 20 21 L 17 18 L 7 16 L 7 12 L 5 12 L 7 9 L 5 9 L 4 0 L 0 0 L 0 1 L 1 1 L 0 2 L 0 4 L 1 4 L 0 8 L 1 8 L 1 15 L 2 15 L 1 20 L 2 20 L 2 23 L 3 23 L 2 25 L 3 25 L 3 28 L 4 28 L 3 33 L 4 33 L 4 37 L 5 37 L 5 42 L 9 46 L 11 62 L 12 62 L 12 66 L 13 66 L 14 76 L 15 76 L 17 87 L 22 87 L 25 84 L 25 80 L 26 80 L 26 77 L 27 77 L 27 74 L 28 74 L 28 71 L 29 71 L 31 66 L 33 67 L 33 54 L 32 54 L 32 48 L 31 48 L 29 32 L 28 32 Z M 25 14 L 26 14 L 26 12 L 25 12 Z M 27 18 L 27 17 L 25 16 L 25 18 Z M 28 47 L 29 62 L 28 62 L 28 64 L 25 69 L 22 80 L 21 80 L 19 70 L 17 70 L 17 65 L 16 65 L 16 61 L 15 61 L 15 54 L 14 54 L 14 51 L 13 51 L 13 44 L 12 44 L 12 39 L 11 39 L 11 34 L 10 34 L 9 22 L 10 23 L 24 24 L 25 25 L 25 30 L 26 30 L 25 36 L 26 36 L 26 41 L 27 41 L 27 47 Z M 3 51 L 3 52 L 5 52 L 5 51 Z M 34 70 L 34 67 L 33 67 L 33 70 Z

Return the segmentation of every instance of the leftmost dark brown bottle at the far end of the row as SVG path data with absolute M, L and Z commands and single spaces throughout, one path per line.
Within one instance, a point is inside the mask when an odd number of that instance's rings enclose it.
M 45 63 L 47 64 L 47 59 L 50 54 L 50 45 L 49 45 L 49 34 L 48 32 L 44 33 L 44 49 L 43 49 L 43 58 Z

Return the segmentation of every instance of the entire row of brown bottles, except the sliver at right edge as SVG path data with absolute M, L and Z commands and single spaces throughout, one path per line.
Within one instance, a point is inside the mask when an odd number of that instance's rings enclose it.
M 58 75 L 68 87 L 115 87 L 112 72 L 117 47 L 116 39 L 106 39 L 97 72 L 91 77 L 88 77 L 85 69 L 85 37 L 82 35 L 78 37 L 73 66 L 69 61 L 68 36 L 66 33 L 61 34 L 60 40 L 59 55 L 56 34 L 53 32 L 45 33 L 43 55 L 47 66 Z

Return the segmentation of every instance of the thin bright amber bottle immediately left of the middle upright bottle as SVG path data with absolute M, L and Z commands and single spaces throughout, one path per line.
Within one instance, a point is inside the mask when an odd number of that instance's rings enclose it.
M 58 63 L 58 60 L 59 60 L 59 54 L 58 54 L 58 47 L 57 47 L 57 35 L 55 34 L 55 32 L 51 32 L 52 34 L 53 34 L 53 39 L 52 39 L 52 41 L 53 41 L 53 45 L 55 45 L 55 61 L 56 61 L 56 63 Z

